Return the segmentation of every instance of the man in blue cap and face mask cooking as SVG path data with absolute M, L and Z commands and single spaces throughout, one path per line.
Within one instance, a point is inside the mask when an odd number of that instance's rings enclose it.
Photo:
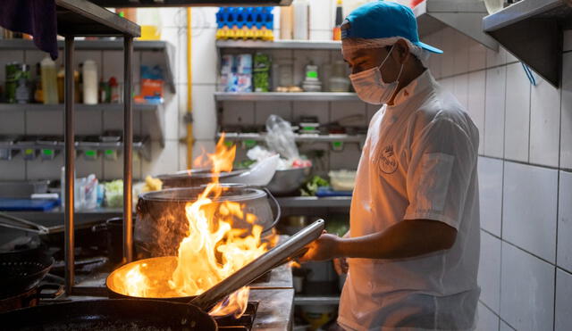
M 323 234 L 301 261 L 349 264 L 344 329 L 472 329 L 480 293 L 478 130 L 425 69 L 428 52 L 442 51 L 419 41 L 408 7 L 368 3 L 341 29 L 357 95 L 383 107 L 357 167 L 349 233 Z

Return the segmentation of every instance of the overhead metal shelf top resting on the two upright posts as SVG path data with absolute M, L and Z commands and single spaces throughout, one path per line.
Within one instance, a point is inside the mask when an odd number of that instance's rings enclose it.
M 86 0 L 55 0 L 60 36 L 139 37 L 139 25 Z

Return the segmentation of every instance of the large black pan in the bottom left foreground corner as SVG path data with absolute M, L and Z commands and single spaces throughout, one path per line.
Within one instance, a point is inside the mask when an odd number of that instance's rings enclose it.
M 216 330 L 197 306 L 154 300 L 64 302 L 0 314 L 2 330 Z

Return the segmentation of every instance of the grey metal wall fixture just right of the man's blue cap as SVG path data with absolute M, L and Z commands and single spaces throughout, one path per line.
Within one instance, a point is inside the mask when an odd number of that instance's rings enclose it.
M 482 0 L 425 0 L 413 12 L 420 37 L 449 26 L 492 50 L 499 49 L 499 44 L 483 31 L 483 18 L 488 12 Z

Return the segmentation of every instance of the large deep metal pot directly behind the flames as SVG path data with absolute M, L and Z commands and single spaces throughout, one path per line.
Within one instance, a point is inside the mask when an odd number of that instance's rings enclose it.
M 256 224 L 270 230 L 280 219 L 280 206 L 272 194 L 248 186 L 223 184 L 223 194 L 213 203 L 204 206 L 214 215 L 220 203 L 240 203 L 242 211 L 257 216 Z M 177 255 L 182 238 L 187 236 L 189 223 L 185 215 L 187 203 L 194 203 L 204 186 L 169 188 L 139 195 L 137 219 L 134 228 L 134 244 L 138 258 Z M 276 217 L 268 200 L 275 203 Z M 233 219 L 233 228 L 251 228 L 246 219 Z

